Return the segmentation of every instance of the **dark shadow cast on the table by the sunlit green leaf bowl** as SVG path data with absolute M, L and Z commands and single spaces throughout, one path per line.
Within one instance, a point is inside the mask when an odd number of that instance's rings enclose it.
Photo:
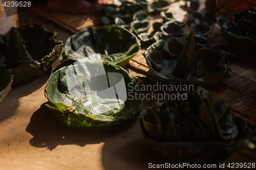
M 129 129 L 134 124 L 116 125 L 111 127 L 68 127 L 42 104 L 34 112 L 26 131 L 33 135 L 30 144 L 34 147 L 47 147 L 52 150 L 57 145 L 77 144 L 84 146 L 104 142 L 106 138 L 115 136 Z

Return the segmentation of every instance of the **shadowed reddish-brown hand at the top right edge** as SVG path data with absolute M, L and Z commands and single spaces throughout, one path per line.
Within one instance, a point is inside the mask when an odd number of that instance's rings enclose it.
M 216 6 L 221 14 L 230 20 L 234 20 L 235 14 L 249 9 L 246 0 L 216 0 Z

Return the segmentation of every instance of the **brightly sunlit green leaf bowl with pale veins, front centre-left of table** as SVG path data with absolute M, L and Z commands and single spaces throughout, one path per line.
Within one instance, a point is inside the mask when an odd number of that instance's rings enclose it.
M 112 88 L 114 93 L 106 91 Z M 142 103 L 134 79 L 122 67 L 106 62 L 63 67 L 51 75 L 45 92 L 47 106 L 67 126 L 123 124 L 136 118 Z

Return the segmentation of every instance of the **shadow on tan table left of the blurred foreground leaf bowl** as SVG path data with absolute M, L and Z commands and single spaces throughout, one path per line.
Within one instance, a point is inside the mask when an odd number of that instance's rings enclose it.
M 146 95 L 149 91 L 141 91 Z M 154 100 L 144 99 L 140 106 L 143 112 L 152 106 Z M 137 120 L 133 127 L 119 135 L 117 140 L 106 141 L 102 149 L 102 164 L 105 170 L 143 170 L 149 169 L 148 163 L 164 164 L 161 153 L 148 149 L 143 139 L 140 123 Z

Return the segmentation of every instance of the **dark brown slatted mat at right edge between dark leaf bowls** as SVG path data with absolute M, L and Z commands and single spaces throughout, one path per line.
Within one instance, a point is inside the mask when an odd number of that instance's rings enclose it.
M 232 62 L 233 76 L 208 90 L 218 93 L 234 114 L 256 126 L 256 56 L 250 57 Z

